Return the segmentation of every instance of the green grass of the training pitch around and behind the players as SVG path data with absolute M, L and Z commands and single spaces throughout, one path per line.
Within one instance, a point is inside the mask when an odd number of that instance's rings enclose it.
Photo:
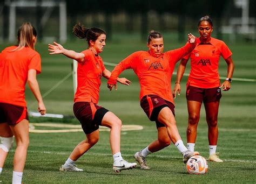
M 165 41 L 165 50 L 182 46 Z M 233 52 L 235 71 L 233 77 L 256 79 L 255 44 L 227 44 Z M 1 45 L 0 49 L 6 45 Z M 86 45 L 82 40 L 68 43 L 66 48 L 82 51 Z M 106 62 L 118 63 L 134 51 L 146 49 L 146 44 L 136 40 L 118 39 L 116 43 L 107 43 L 101 54 Z M 71 61 L 62 55 L 50 56 L 47 45 L 38 44 L 37 50 L 42 55 L 42 74 L 38 82 L 42 94 L 46 93 L 59 80 L 71 72 Z M 109 70 L 113 67 L 106 66 Z M 186 73 L 189 72 L 189 64 Z M 226 76 L 226 63 L 220 60 L 219 72 Z M 106 88 L 102 80 L 99 105 L 111 110 L 123 124 L 142 125 L 143 130 L 122 132 L 121 150 L 126 160 L 132 161 L 132 155 L 157 138 L 155 124 L 150 122 L 139 105 L 139 83 L 132 70 L 122 73 L 132 84 L 121 86 L 117 91 Z M 172 79 L 172 84 L 175 80 Z M 185 99 L 184 76 L 181 83 L 181 95 L 176 98 L 176 120 L 181 137 L 186 143 L 187 107 Z M 44 98 L 49 113 L 72 116 L 73 86 L 71 77 Z M 85 139 L 83 132 L 72 133 L 30 133 L 30 147 L 24 169 L 24 183 L 255 183 L 256 168 L 256 96 L 255 82 L 233 81 L 232 88 L 223 92 L 219 109 L 219 139 L 217 151 L 223 163 L 208 163 L 206 175 L 190 175 L 186 172 L 181 154 L 171 144 L 157 153 L 149 155 L 147 162 L 150 171 L 141 171 L 138 167 L 121 173 L 112 172 L 112 155 L 109 146 L 109 132 L 100 132 L 99 142 L 85 153 L 78 161 L 82 173 L 60 173 L 70 152 Z M 30 90 L 26 90 L 28 109 L 36 111 L 37 104 Z M 79 124 L 75 118 L 54 119 L 30 117 L 30 122 L 59 122 Z M 38 128 L 39 129 L 39 128 Z M 56 128 L 40 128 L 56 129 Z M 198 125 L 196 150 L 203 157 L 208 157 L 207 125 L 204 107 Z M 14 149 L 6 159 L 2 183 L 10 183 Z

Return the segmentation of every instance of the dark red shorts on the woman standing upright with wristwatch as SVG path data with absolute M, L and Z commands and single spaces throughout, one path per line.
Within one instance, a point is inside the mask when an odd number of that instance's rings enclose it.
M 197 102 L 216 102 L 221 98 L 221 89 L 216 88 L 197 88 L 193 86 L 188 86 L 186 91 L 186 98 L 190 101 Z

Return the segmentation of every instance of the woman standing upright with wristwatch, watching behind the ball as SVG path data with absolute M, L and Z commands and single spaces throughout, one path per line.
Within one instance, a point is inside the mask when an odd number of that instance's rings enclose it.
M 200 38 L 197 38 L 196 48 L 181 60 L 173 96 L 176 96 L 176 92 L 180 94 L 180 81 L 184 74 L 187 61 L 190 58 L 191 70 L 186 90 L 188 109 L 187 148 L 191 151 L 194 150 L 201 104 L 204 102 L 208 124 L 209 160 L 223 162 L 223 160 L 219 159 L 218 153 L 216 153 L 218 140 L 217 119 L 221 98 L 220 90 L 221 88 L 224 91 L 230 90 L 234 63 L 231 58 L 232 53 L 230 49 L 223 41 L 211 37 L 212 31 L 213 24 L 211 18 L 208 16 L 200 18 L 198 23 Z M 220 84 L 218 73 L 220 56 L 227 63 L 227 78 L 222 84 Z

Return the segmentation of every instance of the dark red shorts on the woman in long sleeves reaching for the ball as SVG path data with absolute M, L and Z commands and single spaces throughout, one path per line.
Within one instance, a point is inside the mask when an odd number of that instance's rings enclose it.
M 160 123 L 157 120 L 161 109 L 163 109 L 164 107 L 169 107 L 172 111 L 172 114 L 175 116 L 174 105 L 171 102 L 166 101 L 157 95 L 143 96 L 142 100 L 140 100 L 140 106 L 142 107 L 150 121 L 156 122 L 157 128 L 165 126 L 163 123 Z

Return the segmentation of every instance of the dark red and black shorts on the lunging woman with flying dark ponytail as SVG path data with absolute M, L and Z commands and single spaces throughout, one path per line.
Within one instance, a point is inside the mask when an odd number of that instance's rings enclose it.
M 82 125 L 85 134 L 92 133 L 102 125 L 102 119 L 109 110 L 92 102 L 76 102 L 73 112 Z

